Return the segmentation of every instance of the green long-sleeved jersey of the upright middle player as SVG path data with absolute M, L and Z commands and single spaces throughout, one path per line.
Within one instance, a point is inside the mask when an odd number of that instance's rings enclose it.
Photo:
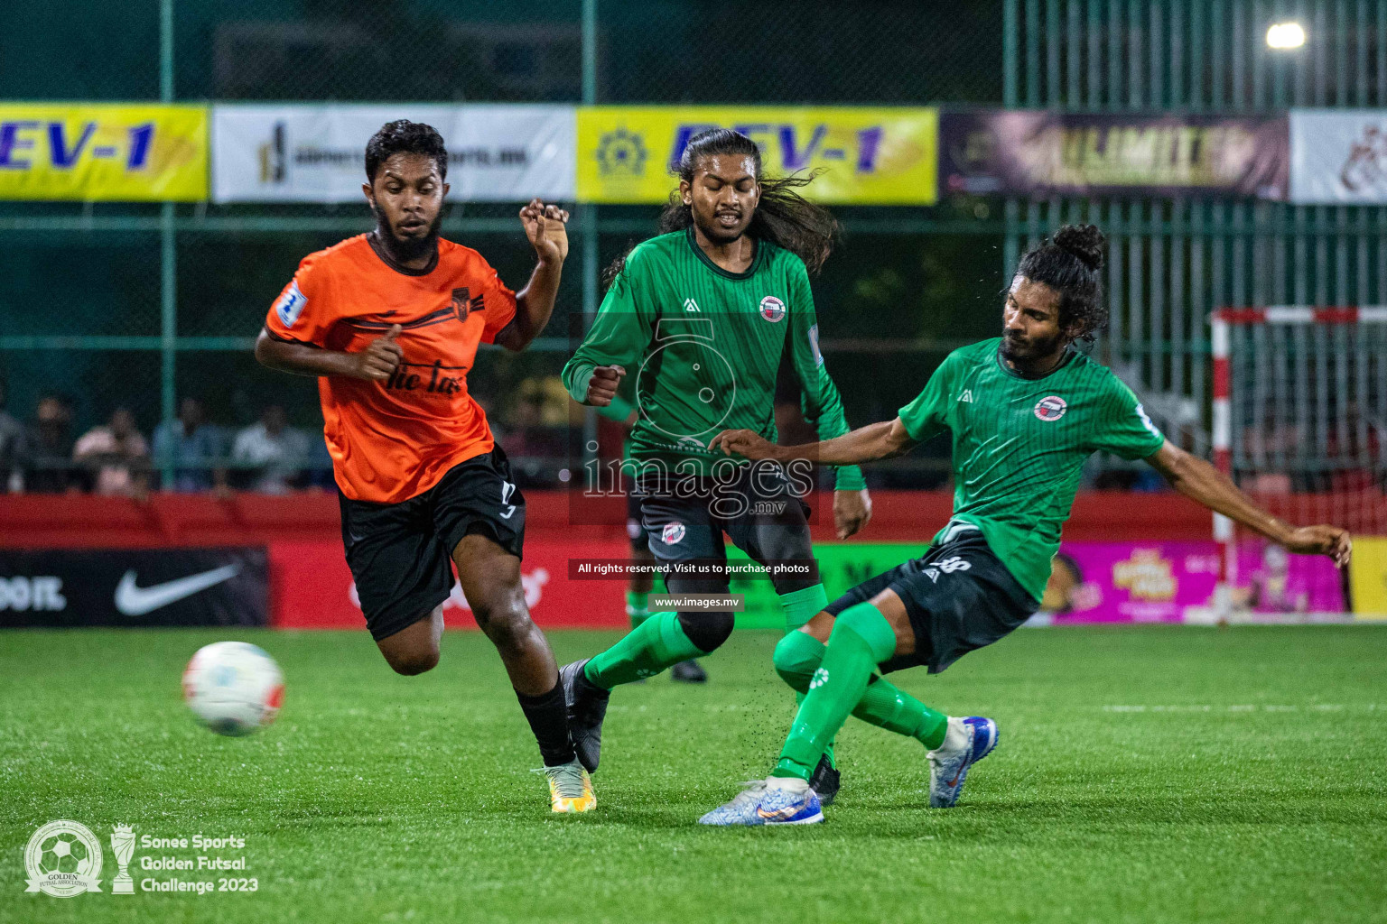
M 843 405 L 818 350 L 814 296 L 804 263 L 768 241 L 743 273 L 717 266 L 694 229 L 639 244 L 626 259 L 592 330 L 563 367 L 574 400 L 587 398 L 596 366 L 635 378 L 628 457 L 662 460 L 673 472 L 709 474 L 725 459 L 709 441 L 752 429 L 775 441 L 775 373 L 789 350 L 804 418 L 820 439 L 847 432 Z M 681 467 L 681 463 L 692 461 Z M 838 489 L 865 485 L 861 470 L 838 470 Z

